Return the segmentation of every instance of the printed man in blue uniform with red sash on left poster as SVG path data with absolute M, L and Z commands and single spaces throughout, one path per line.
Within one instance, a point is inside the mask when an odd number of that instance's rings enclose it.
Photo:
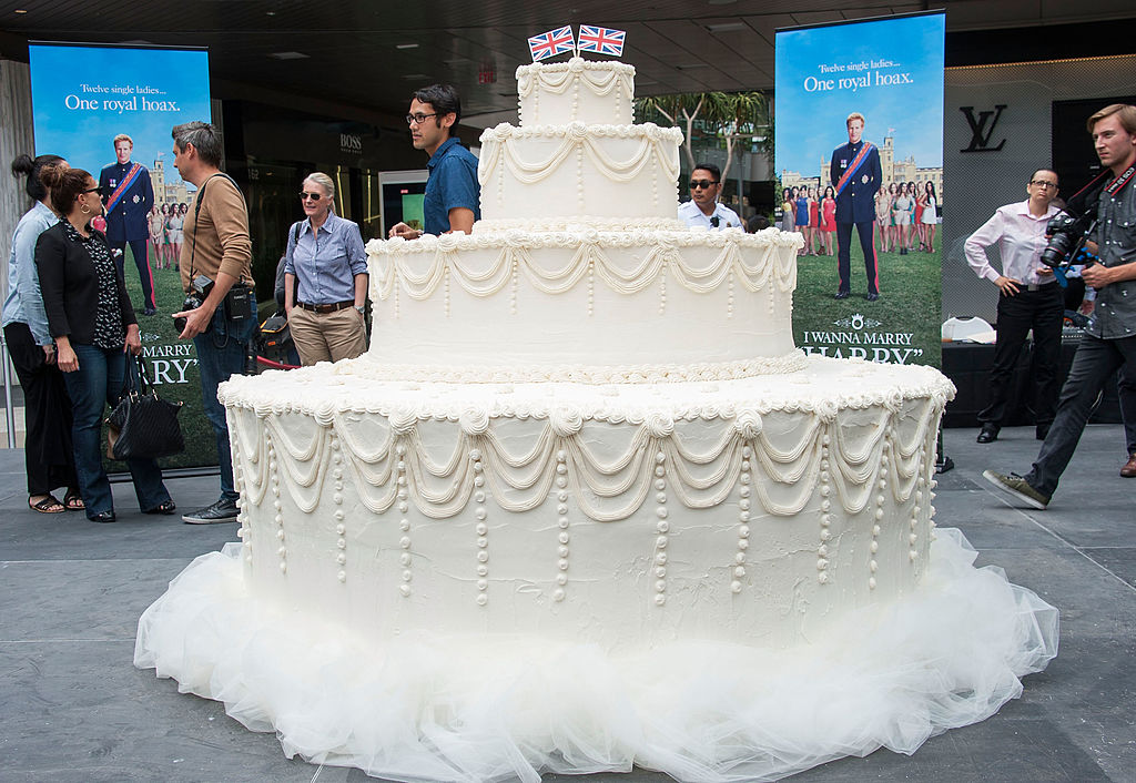
M 153 272 L 147 258 L 150 239 L 150 209 L 153 207 L 153 185 L 145 166 L 131 160 L 134 140 L 125 133 L 115 136 L 115 163 L 102 167 L 99 186 L 102 203 L 107 207 L 107 242 L 110 243 L 118 270 L 125 274 L 126 245 L 131 247 L 134 265 L 145 300 L 142 313 L 152 316 L 158 311 L 153 293 Z

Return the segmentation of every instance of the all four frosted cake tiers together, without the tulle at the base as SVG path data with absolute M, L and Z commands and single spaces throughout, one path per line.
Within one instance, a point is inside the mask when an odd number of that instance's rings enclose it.
M 799 234 L 668 230 L 680 133 L 574 119 L 625 74 L 523 69 L 485 225 L 368 244 L 368 353 L 222 385 L 264 601 L 376 641 L 783 647 L 918 583 L 953 386 L 803 357 Z

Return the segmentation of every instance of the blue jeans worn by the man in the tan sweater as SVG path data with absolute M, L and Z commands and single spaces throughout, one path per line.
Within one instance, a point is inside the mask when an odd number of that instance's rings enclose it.
M 257 311 L 257 300 L 251 293 L 252 311 Z M 206 418 L 212 425 L 217 439 L 217 459 L 220 465 L 220 499 L 234 501 L 240 492 L 233 489 L 233 452 L 228 444 L 228 422 L 225 406 L 217 401 L 217 386 L 228 381 L 231 375 L 244 373 L 248 353 L 256 333 L 257 319 L 229 320 L 225 307 L 217 308 L 208 332 L 193 338 L 198 349 L 198 368 L 201 370 L 201 399 Z

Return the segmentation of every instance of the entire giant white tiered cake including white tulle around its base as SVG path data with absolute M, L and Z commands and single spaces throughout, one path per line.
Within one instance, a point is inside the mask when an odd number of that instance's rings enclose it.
M 991 715 L 1055 611 L 935 541 L 935 369 L 805 357 L 797 234 L 675 219 L 634 68 L 518 68 L 470 235 L 368 244 L 365 356 L 223 385 L 239 544 L 135 663 L 406 781 L 760 780 Z

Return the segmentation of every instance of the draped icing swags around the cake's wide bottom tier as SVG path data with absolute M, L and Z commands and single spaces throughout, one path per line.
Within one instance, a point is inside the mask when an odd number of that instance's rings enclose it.
M 378 431 L 377 436 L 356 432 L 353 418 L 346 413 L 320 413 L 317 418 L 326 419 L 324 423 L 308 419 L 309 424 L 302 427 L 296 426 L 298 419 L 291 415 L 260 417 L 244 410 L 231 410 L 231 415 L 248 416 L 254 422 L 253 431 L 259 433 L 254 436 L 257 444 L 247 447 L 242 441 L 235 450 L 249 503 L 259 503 L 258 495 L 262 498 L 266 490 L 273 491 L 274 502 L 286 492 L 301 511 L 310 514 L 321 497 L 325 476 L 334 484 L 332 497 L 342 497 L 346 473 L 342 468 L 348 465 L 359 501 L 375 513 L 384 513 L 395 501 L 401 509 L 409 493 L 409 501 L 425 516 L 451 517 L 467 506 L 479 476 L 483 484 L 493 484 L 492 492 L 506 511 L 540 507 L 556 483 L 558 490 L 570 489 L 577 507 L 587 517 L 613 522 L 627 518 L 651 497 L 658 477 L 654 475 L 658 455 L 663 456 L 667 465 L 667 494 L 687 508 L 717 506 L 741 485 L 749 486 L 747 493 L 740 493 L 741 500 L 746 501 L 742 510 L 750 511 L 752 503 L 760 502 L 768 514 L 788 516 L 800 513 L 819 488 L 822 515 L 836 502 L 851 514 L 870 508 L 875 515 L 891 502 L 887 495 L 895 502 L 907 502 L 919 492 L 913 501 L 917 510 L 912 511 L 918 515 L 919 509 L 927 508 L 926 455 L 934 449 L 933 425 L 943 405 L 942 399 L 928 399 L 918 410 L 907 411 L 903 420 L 918 424 L 904 428 L 902 436 L 896 414 L 882 408 L 876 424 L 860 420 L 862 426 L 857 427 L 877 434 L 857 439 L 854 447 L 846 442 L 843 427 L 828 415 L 805 417 L 793 440 L 780 448 L 761 432 L 755 414 L 740 416 L 736 432 L 727 431 L 720 441 L 701 443 L 698 448 L 684 443 L 674 432 L 674 422 L 650 419 L 638 426 L 632 441 L 616 455 L 590 447 L 588 440 L 579 434 L 583 419 L 570 426 L 549 422 L 531 447 L 517 452 L 513 440 L 498 438 L 490 417 L 475 411 L 468 422 L 466 414 L 461 415 L 463 433 L 441 459 L 431 456 L 437 445 L 428 450 L 423 444 L 415 425 L 416 415 L 409 411 L 391 414 L 390 426 L 396 435 L 382 435 Z M 858 416 L 862 419 L 862 414 Z M 912 430 L 925 433 L 925 438 L 914 439 L 908 447 L 911 455 L 903 456 L 901 451 Z M 470 450 L 475 448 L 479 456 L 470 460 Z M 392 449 L 398 453 L 393 461 Z M 253 460 L 258 451 L 260 458 Z M 481 466 L 479 470 L 473 467 L 474 461 Z M 742 477 L 752 476 L 759 467 L 768 482 L 752 478 L 746 482 Z M 392 472 L 402 481 L 392 482 Z M 396 494 L 390 489 L 392 484 L 398 486 Z M 768 491 L 771 485 L 779 488 L 776 498 Z M 791 493 L 786 493 L 788 488 L 793 488 Z M 617 498 L 618 502 L 612 503 Z M 820 544 L 826 543 L 821 531 Z M 909 543 L 913 550 L 926 545 Z M 826 556 L 820 549 L 817 555 L 819 566 Z

